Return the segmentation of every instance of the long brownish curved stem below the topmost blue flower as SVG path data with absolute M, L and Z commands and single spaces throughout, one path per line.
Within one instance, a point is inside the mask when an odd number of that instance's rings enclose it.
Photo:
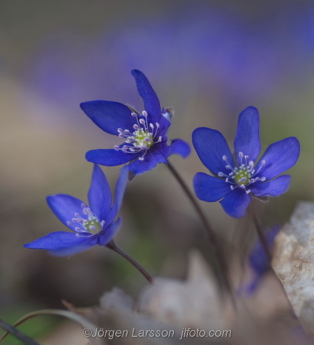
M 184 181 L 184 179 L 182 179 L 181 175 L 179 175 L 179 172 L 177 172 L 175 167 L 172 164 L 170 164 L 169 161 L 168 161 L 167 166 L 168 166 L 169 170 L 173 173 L 175 179 L 177 179 L 177 181 L 179 182 L 180 186 L 182 187 L 182 189 L 186 193 L 186 196 L 188 197 L 188 199 L 190 199 L 196 212 L 199 215 L 199 218 L 202 220 L 202 222 L 206 228 L 206 235 L 210 239 L 210 242 L 212 244 L 213 253 L 215 254 L 215 261 L 217 262 L 217 264 L 219 266 L 220 274 L 218 277 L 221 280 L 221 282 L 226 286 L 230 295 L 233 296 L 232 288 L 230 286 L 229 279 L 226 275 L 226 272 L 227 272 L 226 260 L 224 258 L 223 253 L 222 253 L 222 248 L 221 248 L 219 242 L 217 241 L 217 237 L 216 237 L 214 230 L 211 228 L 210 224 L 208 223 L 208 220 L 207 220 L 206 216 L 204 215 L 202 208 L 199 207 L 199 204 L 197 203 L 197 200 L 195 199 L 193 193 L 190 191 L 190 189 L 186 185 L 186 182 Z

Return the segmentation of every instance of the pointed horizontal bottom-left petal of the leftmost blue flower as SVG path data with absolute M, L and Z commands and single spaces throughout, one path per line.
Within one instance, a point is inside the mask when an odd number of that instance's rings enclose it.
M 52 255 L 66 256 L 79 253 L 95 246 L 97 242 L 98 235 L 78 237 L 75 233 L 58 231 L 36 239 L 34 242 L 25 244 L 24 247 L 50 250 Z

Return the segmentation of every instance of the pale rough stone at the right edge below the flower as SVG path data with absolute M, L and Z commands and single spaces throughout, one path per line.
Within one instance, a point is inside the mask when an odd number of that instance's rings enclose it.
M 300 202 L 275 240 L 273 269 L 295 315 L 314 335 L 314 203 Z

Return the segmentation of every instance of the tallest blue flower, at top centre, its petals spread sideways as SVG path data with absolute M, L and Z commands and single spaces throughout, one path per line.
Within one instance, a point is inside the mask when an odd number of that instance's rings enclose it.
M 167 163 L 173 154 L 187 157 L 190 146 L 181 139 L 167 144 L 172 109 L 162 109 L 159 99 L 145 75 L 132 71 L 139 95 L 144 100 L 145 110 L 137 110 L 112 101 L 90 101 L 81 103 L 81 109 L 102 130 L 124 139 L 124 144 L 108 150 L 91 150 L 86 159 L 104 166 L 128 164 L 133 175 L 155 168 L 158 163 Z

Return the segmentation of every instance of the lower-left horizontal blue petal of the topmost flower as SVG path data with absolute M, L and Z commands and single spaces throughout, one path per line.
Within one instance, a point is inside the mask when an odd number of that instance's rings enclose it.
M 125 153 L 113 148 L 107 150 L 90 150 L 86 153 L 86 159 L 101 166 L 120 166 L 139 157 L 138 153 Z

